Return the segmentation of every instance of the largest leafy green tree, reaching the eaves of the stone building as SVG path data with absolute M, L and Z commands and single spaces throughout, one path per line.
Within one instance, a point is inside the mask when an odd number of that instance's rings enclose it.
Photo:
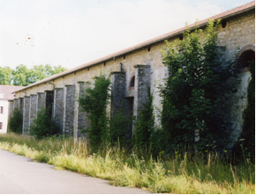
M 230 124 L 224 122 L 223 92 L 235 92 L 231 77 L 236 61 L 222 58 L 225 47 L 218 47 L 218 28 L 209 20 L 205 35 L 197 27 L 186 30 L 184 40 L 167 43 L 162 61 L 169 76 L 161 86 L 162 136 L 165 148 L 196 144 L 199 149 L 215 142 L 222 147 L 229 141 Z M 200 141 L 195 141 L 195 137 Z

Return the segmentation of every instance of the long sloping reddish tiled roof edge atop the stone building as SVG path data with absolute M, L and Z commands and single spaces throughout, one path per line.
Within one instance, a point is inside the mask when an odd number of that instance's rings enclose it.
M 222 13 L 220 13 L 220 14 L 217 14 L 217 15 L 215 15 L 215 16 L 213 16 L 213 17 L 200 20 L 199 23 L 198 23 L 198 25 L 199 25 L 199 26 L 207 25 L 207 21 L 208 21 L 209 19 L 215 19 L 215 20 L 216 20 L 216 19 L 219 19 L 219 18 L 222 18 L 222 19 L 224 19 L 224 18 L 230 18 L 231 16 L 240 14 L 240 13 L 245 12 L 245 11 L 250 11 L 250 10 L 252 10 L 252 9 L 255 9 L 255 2 L 254 2 L 254 1 L 252 1 L 251 3 L 248 3 L 248 4 L 243 4 L 243 5 L 241 5 L 241 6 L 238 6 L 238 7 L 234 8 L 234 9 L 232 9 L 232 10 L 230 10 L 230 11 L 224 11 L 224 12 L 222 12 Z M 192 24 L 192 25 L 189 25 L 188 27 L 189 27 L 190 29 L 192 29 L 194 26 L 195 26 L 195 24 Z M 52 79 L 55 79 L 55 78 L 57 78 L 57 77 L 70 74 L 70 73 L 75 72 L 75 71 L 77 71 L 77 70 L 79 70 L 79 69 L 85 69 L 85 68 L 90 67 L 90 66 L 93 66 L 93 65 L 95 65 L 95 64 L 97 64 L 97 63 L 100 63 L 100 62 L 103 62 L 103 61 L 108 61 L 109 59 L 112 59 L 112 58 L 114 58 L 114 57 L 120 56 L 120 55 L 122 55 L 122 54 L 127 54 L 127 53 L 132 52 L 132 51 L 134 51 L 134 50 L 136 50 L 136 49 L 139 49 L 139 48 L 142 48 L 142 47 L 147 47 L 147 46 L 149 46 L 149 45 L 152 45 L 152 44 L 154 44 L 154 43 L 156 43 L 156 42 L 160 42 L 160 41 L 162 41 L 162 40 L 167 40 L 167 39 L 169 39 L 169 38 L 171 38 L 171 37 L 174 37 L 174 36 L 177 36 L 178 34 L 181 34 L 182 32 L 184 32 L 185 29 L 186 29 L 186 27 L 179 28 L 179 29 L 177 29 L 176 31 L 169 32 L 169 33 L 163 34 L 162 36 L 156 37 L 156 38 L 154 38 L 154 39 L 152 39 L 152 40 L 147 40 L 147 41 L 145 41 L 145 42 L 139 43 L 138 45 L 125 48 L 125 49 L 123 49 L 123 50 L 121 50 L 121 51 L 118 51 L 117 53 L 109 54 L 109 55 L 104 56 L 104 57 L 102 57 L 102 58 L 99 58 L 99 59 L 97 59 L 97 60 L 95 60 L 95 61 L 90 61 L 90 62 L 87 62 L 87 63 L 85 63 L 85 64 L 82 64 L 82 65 L 80 65 L 80 66 L 78 66 L 78 67 L 75 67 L 75 68 L 73 68 L 73 69 L 68 69 L 68 70 L 66 70 L 66 71 L 64 71 L 64 72 L 62 72 L 62 73 L 56 74 L 56 75 L 54 75 L 54 76 L 49 76 L 48 78 L 45 78 L 45 79 L 43 79 L 43 80 L 41 80 L 41 81 L 39 81 L 39 82 L 37 82 L 37 83 L 30 84 L 30 85 L 24 87 L 23 89 L 32 87 L 32 86 L 37 85 L 37 84 L 40 84 L 40 83 L 49 82 L 49 81 L 52 80 Z M 19 90 L 17 90 L 17 91 L 19 91 Z M 16 92 L 16 91 L 14 91 L 14 92 Z

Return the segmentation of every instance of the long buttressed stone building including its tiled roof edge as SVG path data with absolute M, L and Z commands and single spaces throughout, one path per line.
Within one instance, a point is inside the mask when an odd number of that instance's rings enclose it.
M 228 106 L 231 113 L 230 122 L 235 129 L 231 136 L 236 140 L 242 129 L 242 112 L 245 108 L 246 91 L 251 75 L 246 68 L 247 61 L 255 54 L 255 2 L 244 4 L 211 18 L 222 19 L 219 38 L 220 47 L 227 46 L 226 58 L 229 59 L 237 47 L 241 48 L 239 54 L 241 65 L 237 75 L 243 82 L 237 96 L 232 98 Z M 208 19 L 199 22 L 200 28 L 205 29 Z M 193 29 L 194 26 L 189 25 L 189 28 Z M 86 113 L 79 111 L 76 100 L 81 90 L 87 87 L 86 83 L 97 75 L 99 69 L 106 74 L 113 73 L 109 112 L 117 112 L 120 106 L 118 102 L 123 101 L 127 109 L 137 116 L 139 106 L 147 101 L 147 84 L 151 91 L 154 91 L 154 105 L 161 108 L 161 98 L 156 86 L 162 83 L 162 79 L 167 75 L 167 69 L 162 64 L 160 50 L 165 46 L 164 40 L 181 39 L 184 30 L 185 27 L 177 29 L 16 90 L 14 103 L 24 103 L 22 107 L 13 103 L 14 107 L 23 109 L 23 134 L 28 134 L 29 126 L 36 118 L 36 113 L 42 107 L 51 105 L 52 118 L 61 126 L 60 133 L 73 134 L 78 138 L 79 129 L 89 126 L 90 121 L 86 119 Z M 157 119 L 155 122 L 158 122 Z M 131 136 L 132 134 L 131 128 Z

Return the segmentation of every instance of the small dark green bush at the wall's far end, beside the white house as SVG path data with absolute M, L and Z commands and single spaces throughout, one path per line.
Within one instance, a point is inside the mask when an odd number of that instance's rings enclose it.
M 23 116 L 18 108 L 14 108 L 8 121 L 8 132 L 22 134 Z

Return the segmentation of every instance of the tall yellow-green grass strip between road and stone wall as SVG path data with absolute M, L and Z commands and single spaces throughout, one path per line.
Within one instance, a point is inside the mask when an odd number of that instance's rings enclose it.
M 108 179 L 117 186 L 171 193 L 255 193 L 254 162 L 232 165 L 214 152 L 165 155 L 162 151 L 154 158 L 146 148 L 128 151 L 105 144 L 95 152 L 87 141 L 38 141 L 16 134 L 0 135 L 0 148 L 48 162 L 57 170 Z

